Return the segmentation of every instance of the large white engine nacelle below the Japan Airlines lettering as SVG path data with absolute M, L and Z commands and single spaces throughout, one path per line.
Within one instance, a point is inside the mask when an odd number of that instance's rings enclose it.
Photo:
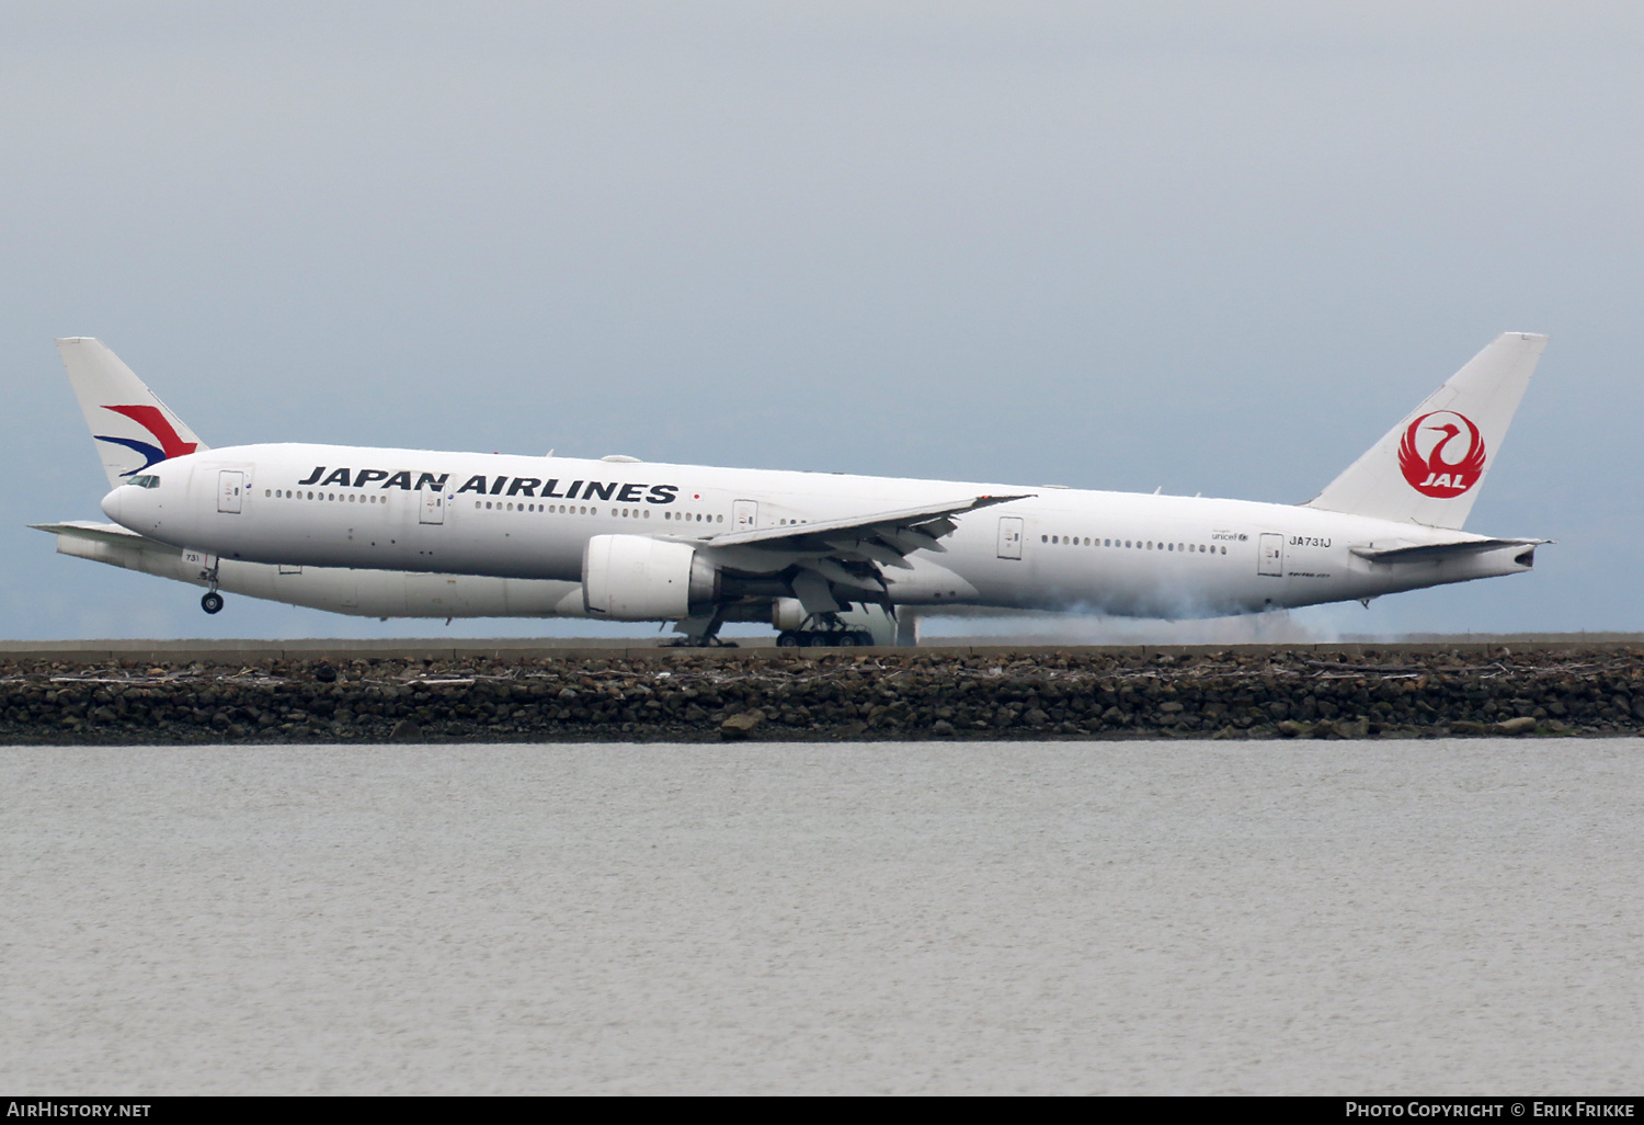
M 643 535 L 595 535 L 582 551 L 582 604 L 613 622 L 690 617 L 718 595 L 718 571 L 686 543 Z

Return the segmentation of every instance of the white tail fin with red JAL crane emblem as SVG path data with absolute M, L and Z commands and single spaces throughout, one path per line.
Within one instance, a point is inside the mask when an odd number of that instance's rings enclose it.
M 1460 528 L 1544 347 L 1545 336 L 1498 336 L 1305 507 Z

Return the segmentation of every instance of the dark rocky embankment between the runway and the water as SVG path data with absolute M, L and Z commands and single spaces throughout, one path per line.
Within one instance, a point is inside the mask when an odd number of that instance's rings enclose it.
M 1644 650 L 0 661 L 0 743 L 1430 738 L 1644 730 Z

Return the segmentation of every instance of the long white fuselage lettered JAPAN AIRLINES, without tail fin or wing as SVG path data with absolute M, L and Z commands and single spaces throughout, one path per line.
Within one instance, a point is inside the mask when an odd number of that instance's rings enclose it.
M 117 523 L 255 562 L 580 581 L 597 535 L 702 544 L 967 497 L 942 551 L 888 569 L 917 607 L 1215 617 L 1514 574 L 1524 546 L 1397 564 L 1358 551 L 1480 539 L 1309 507 L 631 461 L 260 444 L 173 457 L 104 500 Z

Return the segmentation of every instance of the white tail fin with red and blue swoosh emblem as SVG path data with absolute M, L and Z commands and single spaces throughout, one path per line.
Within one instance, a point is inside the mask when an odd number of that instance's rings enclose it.
M 58 354 L 69 368 L 69 383 L 110 485 L 122 485 L 169 457 L 207 447 L 102 340 L 90 336 L 62 339 Z

